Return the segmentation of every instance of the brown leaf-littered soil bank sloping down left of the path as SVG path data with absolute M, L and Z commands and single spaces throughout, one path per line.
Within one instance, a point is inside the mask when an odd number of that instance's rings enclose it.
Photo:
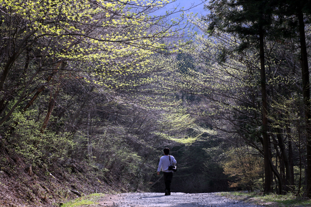
M 46 165 L 27 166 L 21 160 L 8 159 L 0 168 L 0 206 L 60 206 L 67 200 L 91 193 L 126 191 L 116 177 L 107 176 L 87 163 L 63 161 Z M 74 192 L 76 191 L 76 193 Z

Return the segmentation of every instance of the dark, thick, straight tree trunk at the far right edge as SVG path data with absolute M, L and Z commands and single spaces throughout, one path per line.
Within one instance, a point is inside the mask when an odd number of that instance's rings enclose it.
M 302 11 L 298 11 L 299 20 L 299 37 L 300 37 L 300 49 L 301 49 L 301 78 L 303 87 L 303 98 L 304 98 L 304 113 L 306 120 L 306 139 L 307 139 L 307 197 L 311 197 L 311 103 L 310 103 L 310 81 L 309 81 L 309 66 L 308 66 L 308 53 L 305 37 L 304 27 L 304 14 Z

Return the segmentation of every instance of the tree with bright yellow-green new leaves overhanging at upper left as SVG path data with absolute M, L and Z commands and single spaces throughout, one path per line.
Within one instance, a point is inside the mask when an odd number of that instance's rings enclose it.
M 67 70 L 74 71 L 72 69 L 75 68 L 72 65 L 74 62 L 92 61 L 100 63 L 97 67 L 101 69 L 96 73 L 101 76 L 113 76 L 116 71 L 118 74 L 123 72 L 129 74 L 133 72 L 133 68 L 123 63 L 125 59 L 132 58 L 131 62 L 140 62 L 142 64 L 140 69 L 144 70 L 143 65 L 148 61 L 143 60 L 155 51 L 163 52 L 169 49 L 174 51 L 177 45 L 187 44 L 187 41 L 182 40 L 176 42 L 172 40 L 167 44 L 159 43 L 160 39 L 177 38 L 179 33 L 183 33 L 180 32 L 182 28 L 178 27 L 179 21 L 168 24 L 166 17 L 169 14 L 148 16 L 148 13 L 163 7 L 167 2 L 159 1 L 146 5 L 145 3 L 144 1 L 137 3 L 56 1 L 50 4 L 28 1 L 24 4 L 1 1 L 2 102 L 14 85 L 11 85 L 11 80 L 8 81 L 7 78 L 17 62 L 25 58 L 23 73 L 33 75 L 27 81 L 23 78 L 23 93 L 20 94 L 16 104 L 2 117 L 0 124 L 9 118 L 22 102 L 37 75 L 48 70 L 57 72 L 69 66 Z M 30 62 L 37 64 L 36 70 L 30 70 Z M 115 68 L 106 70 L 111 66 Z M 94 69 L 96 68 L 92 69 L 93 72 Z M 41 89 L 38 89 L 38 93 Z M 48 119 L 46 121 L 48 122 Z

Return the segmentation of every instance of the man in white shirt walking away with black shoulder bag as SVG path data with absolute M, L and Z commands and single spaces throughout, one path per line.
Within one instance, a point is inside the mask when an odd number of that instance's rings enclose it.
M 160 170 L 162 168 L 165 183 L 165 195 L 171 195 L 170 187 L 173 178 L 173 170 L 169 170 L 169 166 L 175 166 L 177 162 L 173 156 L 169 155 L 169 148 L 165 148 L 163 151 L 165 155 L 160 158 L 157 174 L 160 175 Z

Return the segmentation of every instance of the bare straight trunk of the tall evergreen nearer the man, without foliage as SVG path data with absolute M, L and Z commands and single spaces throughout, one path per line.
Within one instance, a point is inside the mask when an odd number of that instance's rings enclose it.
M 265 51 L 263 41 L 263 31 L 259 32 L 259 48 L 260 48 L 260 76 L 261 76 L 261 93 L 262 93 L 262 147 L 265 171 L 264 192 L 271 192 L 271 169 L 269 164 L 269 137 L 267 133 L 267 91 L 266 91 L 266 71 L 265 71 Z

